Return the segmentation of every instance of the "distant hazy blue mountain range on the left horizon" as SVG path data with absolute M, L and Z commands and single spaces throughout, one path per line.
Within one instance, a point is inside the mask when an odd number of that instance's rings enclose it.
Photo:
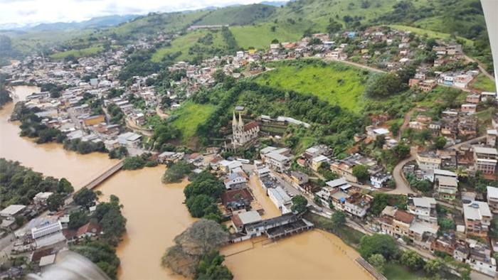
M 18 23 L 5 23 L 0 25 L 0 31 L 63 31 L 66 29 L 83 29 L 90 27 L 105 27 L 117 26 L 120 23 L 125 23 L 139 15 L 124 15 L 124 16 L 98 16 L 90 18 L 88 21 L 80 22 L 57 22 L 57 23 L 40 23 L 37 25 L 22 26 Z

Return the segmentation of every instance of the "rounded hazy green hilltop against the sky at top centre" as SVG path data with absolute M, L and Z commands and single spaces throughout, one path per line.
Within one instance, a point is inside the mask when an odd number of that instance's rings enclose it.
M 196 25 L 230 24 L 231 26 L 242 26 L 254 21 L 264 21 L 265 18 L 275 12 L 277 8 L 261 4 L 228 7 L 212 11 L 203 17 Z

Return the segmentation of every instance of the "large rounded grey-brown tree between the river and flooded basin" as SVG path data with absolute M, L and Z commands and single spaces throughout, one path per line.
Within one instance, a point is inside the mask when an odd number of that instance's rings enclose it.
M 166 249 L 161 263 L 174 273 L 189 277 L 195 274 L 203 256 L 226 242 L 228 242 L 228 232 L 217 222 L 198 220 L 174 238 L 174 245 Z

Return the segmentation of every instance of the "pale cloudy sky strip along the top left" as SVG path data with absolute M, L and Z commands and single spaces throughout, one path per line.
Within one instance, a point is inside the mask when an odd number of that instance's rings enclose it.
M 0 0 L 0 24 L 84 21 L 95 16 L 181 11 L 263 0 Z

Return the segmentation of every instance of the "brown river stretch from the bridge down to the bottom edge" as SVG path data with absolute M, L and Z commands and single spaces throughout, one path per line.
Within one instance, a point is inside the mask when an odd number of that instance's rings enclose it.
M 128 220 L 127 234 L 117 247 L 120 279 L 183 279 L 160 263 L 174 237 L 194 222 L 182 204 L 188 181 L 165 185 L 161 183 L 164 171 L 164 166 L 120 171 L 97 188 L 104 194 L 103 199 L 110 195 L 120 198 L 122 213 Z

